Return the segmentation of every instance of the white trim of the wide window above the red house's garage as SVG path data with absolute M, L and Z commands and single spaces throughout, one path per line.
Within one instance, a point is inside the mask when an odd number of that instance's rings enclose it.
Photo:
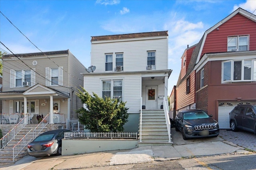
M 241 80 L 234 80 L 234 61 L 242 61 L 242 68 L 244 68 L 244 61 L 252 61 L 252 69 L 251 69 L 251 80 L 244 80 L 244 69 L 242 69 L 242 72 L 241 72 Z M 255 82 L 256 79 L 254 79 L 254 75 L 253 75 L 253 71 L 256 70 L 256 68 L 254 68 L 254 61 L 256 62 L 256 60 L 254 59 L 243 59 L 243 60 L 228 60 L 228 61 L 222 61 L 222 64 L 221 64 L 221 83 L 230 83 L 230 82 Z M 224 74 L 224 63 L 227 63 L 227 62 L 231 62 L 231 80 L 226 80 L 226 81 L 223 81 L 223 74 Z M 256 76 L 256 75 L 255 75 Z

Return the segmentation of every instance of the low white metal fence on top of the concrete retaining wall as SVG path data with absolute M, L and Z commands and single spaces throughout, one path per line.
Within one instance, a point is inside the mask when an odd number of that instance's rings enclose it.
M 65 132 L 64 138 L 138 139 L 136 132 Z

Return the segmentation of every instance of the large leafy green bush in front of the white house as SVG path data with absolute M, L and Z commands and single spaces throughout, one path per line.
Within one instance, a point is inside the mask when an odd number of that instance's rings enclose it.
M 79 121 L 91 132 L 117 132 L 124 131 L 123 125 L 128 121 L 128 108 L 126 102 L 119 99 L 91 96 L 84 88 L 79 90 L 77 96 L 86 108 L 77 110 Z

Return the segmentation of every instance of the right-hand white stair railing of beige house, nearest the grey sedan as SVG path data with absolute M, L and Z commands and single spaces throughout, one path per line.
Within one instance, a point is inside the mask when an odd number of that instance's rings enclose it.
M 34 140 L 39 133 L 46 127 L 46 125 L 49 123 L 49 115 L 46 115 L 44 119 L 35 127 L 35 129 L 31 129 L 20 141 L 14 145 L 12 148 L 13 151 L 13 162 L 16 156 L 25 148 L 28 146 L 30 141 Z

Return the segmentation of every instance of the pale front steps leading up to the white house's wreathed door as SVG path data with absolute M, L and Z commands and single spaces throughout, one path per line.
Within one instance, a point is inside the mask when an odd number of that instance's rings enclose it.
M 142 134 L 140 134 L 140 128 L 142 128 Z M 172 138 L 169 142 L 164 110 L 143 110 L 142 127 L 139 122 L 138 134 L 139 147 L 172 145 Z

